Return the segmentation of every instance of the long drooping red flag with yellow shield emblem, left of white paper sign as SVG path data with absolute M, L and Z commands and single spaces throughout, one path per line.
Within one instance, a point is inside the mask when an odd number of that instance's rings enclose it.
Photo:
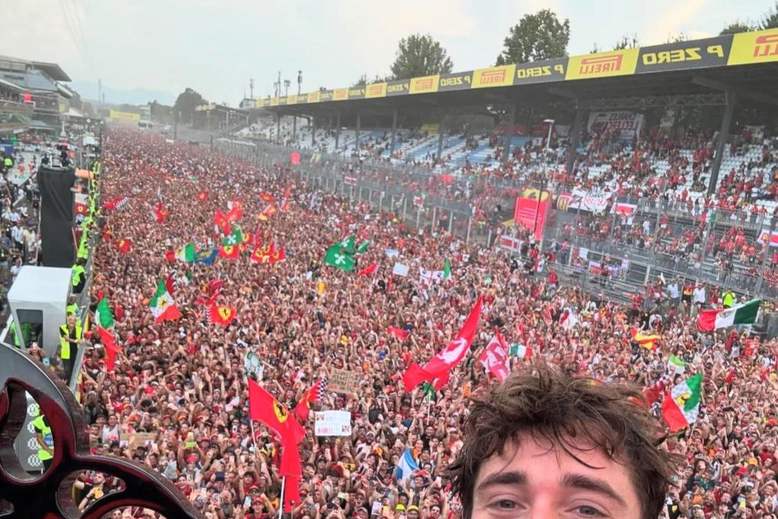
M 283 452 L 279 475 L 286 478 L 284 509 L 291 510 L 293 504 L 300 504 L 299 485 L 303 472 L 297 444 L 305 436 L 305 430 L 289 413 L 286 405 L 282 405 L 252 378 L 248 379 L 248 414 L 255 422 L 263 423 L 275 431 L 281 439 Z

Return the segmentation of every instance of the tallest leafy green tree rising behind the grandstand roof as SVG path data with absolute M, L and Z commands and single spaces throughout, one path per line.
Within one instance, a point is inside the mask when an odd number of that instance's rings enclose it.
M 541 9 L 522 16 L 510 28 L 497 65 L 564 58 L 570 41 L 570 21 L 559 22 L 555 12 Z

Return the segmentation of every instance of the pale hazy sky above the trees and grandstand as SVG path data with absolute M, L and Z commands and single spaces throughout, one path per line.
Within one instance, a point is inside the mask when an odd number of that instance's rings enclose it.
M 0 54 L 58 63 L 79 82 L 147 89 L 174 98 L 184 88 L 237 106 L 272 93 L 281 71 L 296 92 L 350 86 L 387 75 L 401 37 L 429 33 L 454 71 L 493 65 L 510 26 L 552 9 L 570 21 L 568 53 L 608 50 L 623 36 L 641 45 L 684 33 L 717 35 L 735 20 L 759 20 L 775 0 L 19 0 L 0 1 Z M 85 87 L 82 87 L 85 88 Z M 93 92 L 81 92 L 96 98 Z M 118 95 L 118 94 L 115 94 Z M 150 99 L 149 99 L 150 100 Z M 107 102 L 112 100 L 106 98 Z M 116 100 L 114 100 L 115 102 Z

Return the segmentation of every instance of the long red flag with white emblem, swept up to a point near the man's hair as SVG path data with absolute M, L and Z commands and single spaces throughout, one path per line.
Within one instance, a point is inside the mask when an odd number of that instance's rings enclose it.
M 446 346 L 446 349 L 443 349 L 442 352 L 429 359 L 424 366 L 419 366 L 417 363 L 412 363 L 408 366 L 408 370 L 402 376 L 405 391 L 413 391 L 414 387 L 425 381 L 432 382 L 436 380 L 436 389 L 440 389 L 440 387 L 447 384 L 450 370 L 460 363 L 473 342 L 475 330 L 478 328 L 478 321 L 481 319 L 481 307 L 482 296 L 478 296 L 478 300 L 475 301 L 475 307 L 470 311 L 470 315 L 464 321 L 462 328 L 457 333 L 457 337 Z

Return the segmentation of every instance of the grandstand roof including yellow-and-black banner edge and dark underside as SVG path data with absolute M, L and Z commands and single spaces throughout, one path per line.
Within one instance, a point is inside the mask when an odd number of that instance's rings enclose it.
M 630 97 L 718 94 L 699 103 L 724 103 L 723 90 L 778 104 L 778 30 L 504 65 L 422 78 L 371 83 L 258 100 L 281 114 L 431 110 L 489 104 L 544 103 L 564 98 L 579 106 Z M 635 105 L 638 106 L 637 104 Z M 606 107 L 606 103 L 599 103 Z

